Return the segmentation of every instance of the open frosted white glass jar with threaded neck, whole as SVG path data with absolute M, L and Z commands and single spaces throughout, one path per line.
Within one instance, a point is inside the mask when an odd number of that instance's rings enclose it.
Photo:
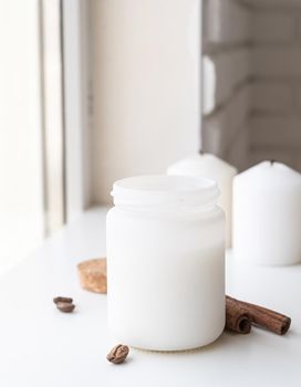
M 183 351 L 225 326 L 225 217 L 216 182 L 141 176 L 114 184 L 107 215 L 108 326 L 134 347 Z

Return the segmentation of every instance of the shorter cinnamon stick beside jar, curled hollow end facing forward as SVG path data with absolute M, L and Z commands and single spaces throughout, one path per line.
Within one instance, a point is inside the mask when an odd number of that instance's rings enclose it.
M 251 331 L 251 317 L 238 303 L 226 296 L 226 328 L 247 334 Z

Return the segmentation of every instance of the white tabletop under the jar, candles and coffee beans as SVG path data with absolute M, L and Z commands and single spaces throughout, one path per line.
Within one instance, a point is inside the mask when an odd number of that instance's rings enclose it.
M 196 352 L 132 349 L 110 364 L 106 296 L 81 290 L 76 275 L 77 262 L 105 255 L 104 224 L 105 209 L 87 211 L 0 279 L 1 387 L 301 386 L 301 265 L 245 268 L 230 253 L 228 294 L 290 315 L 286 336 L 224 333 Z M 55 295 L 72 296 L 76 312 L 60 313 Z

